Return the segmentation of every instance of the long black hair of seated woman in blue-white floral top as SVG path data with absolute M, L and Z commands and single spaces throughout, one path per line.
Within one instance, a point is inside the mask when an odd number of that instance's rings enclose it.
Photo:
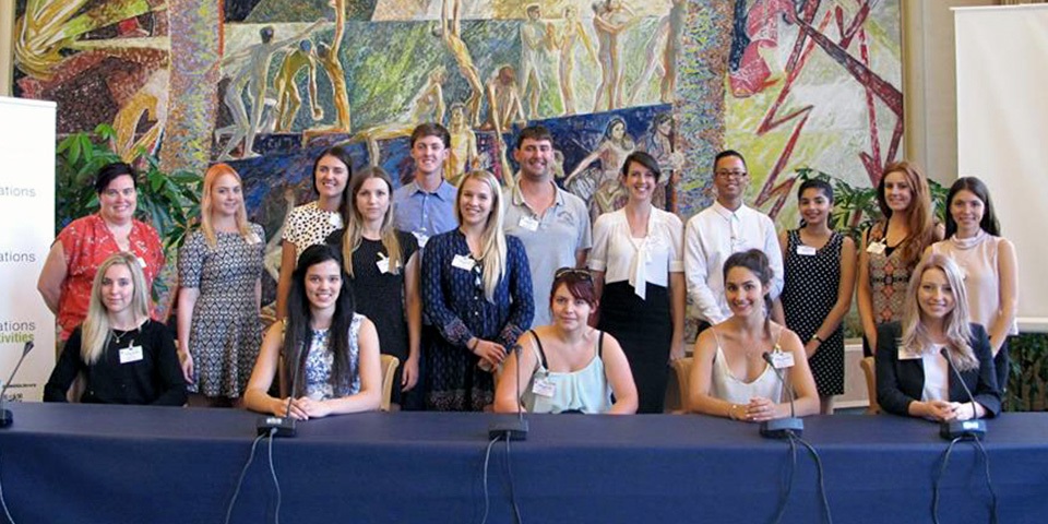
M 356 303 L 353 289 L 349 287 L 349 277 L 342 265 L 342 255 L 331 246 L 318 243 L 306 248 L 298 258 L 298 265 L 291 274 L 291 289 L 287 297 L 287 318 L 284 330 L 284 368 L 287 384 L 297 384 L 293 396 L 301 396 L 305 391 L 306 357 L 309 355 L 309 344 L 313 338 L 312 309 L 309 298 L 306 297 L 306 271 L 309 267 L 334 261 L 342 273 L 342 287 L 338 289 L 338 300 L 335 302 L 335 314 L 331 319 L 331 329 L 327 331 L 327 349 L 332 353 L 330 382 L 337 391 L 340 384 L 353 381 L 349 376 L 349 324 Z

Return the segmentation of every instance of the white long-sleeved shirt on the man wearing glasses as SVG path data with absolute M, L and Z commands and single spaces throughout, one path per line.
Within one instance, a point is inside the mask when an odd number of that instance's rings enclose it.
M 688 221 L 684 231 L 684 275 L 688 297 L 699 319 L 716 324 L 731 315 L 724 297 L 724 262 L 734 253 L 760 249 L 772 267 L 771 297 L 783 290 L 783 252 L 775 225 L 767 215 L 739 206 L 733 212 L 719 202 Z

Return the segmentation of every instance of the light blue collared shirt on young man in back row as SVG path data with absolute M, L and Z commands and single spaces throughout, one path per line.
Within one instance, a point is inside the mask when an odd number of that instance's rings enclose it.
M 434 235 L 458 227 L 455 218 L 455 198 L 458 190 L 441 180 L 437 191 L 430 193 L 414 181 L 393 191 L 393 227 L 408 231 L 418 239 L 418 248 Z

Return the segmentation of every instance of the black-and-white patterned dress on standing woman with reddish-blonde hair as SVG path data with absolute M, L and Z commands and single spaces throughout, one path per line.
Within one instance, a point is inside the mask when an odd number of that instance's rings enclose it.
M 259 357 L 262 324 L 255 285 L 262 275 L 265 233 L 258 224 L 250 227 L 249 239 L 216 233 L 214 248 L 196 230 L 179 250 L 179 285 L 200 289 L 189 335 L 193 393 L 241 396 Z

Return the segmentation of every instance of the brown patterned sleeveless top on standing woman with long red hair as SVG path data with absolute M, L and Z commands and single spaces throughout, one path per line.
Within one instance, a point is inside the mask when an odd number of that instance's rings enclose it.
M 913 273 L 913 267 L 907 266 L 903 260 L 901 248 L 905 241 L 888 247 L 883 229 L 883 223 L 877 223 L 867 234 L 867 246 L 873 241 L 883 242 L 885 246 L 880 253 L 869 253 L 873 322 L 878 325 L 903 320 L 903 302 L 906 287 L 909 286 L 909 275 Z

